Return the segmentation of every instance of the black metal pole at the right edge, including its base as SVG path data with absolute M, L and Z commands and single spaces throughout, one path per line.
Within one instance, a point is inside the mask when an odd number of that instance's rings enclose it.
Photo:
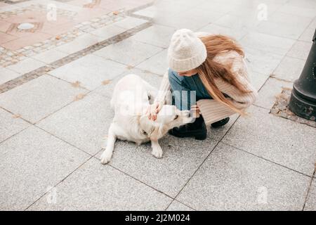
M 316 121 L 316 30 L 301 76 L 294 82 L 289 110 L 299 117 Z

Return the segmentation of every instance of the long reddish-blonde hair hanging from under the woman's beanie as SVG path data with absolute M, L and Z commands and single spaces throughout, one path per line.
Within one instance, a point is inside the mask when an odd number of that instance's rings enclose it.
M 235 75 L 233 75 L 230 71 L 231 65 L 223 65 L 216 63 L 213 60 L 213 58 L 222 51 L 236 51 L 242 57 L 244 57 L 244 51 L 242 51 L 242 48 L 237 45 L 233 39 L 223 35 L 209 35 L 206 37 L 200 37 L 200 39 L 206 46 L 207 58 L 202 65 L 199 65 L 199 67 L 196 68 L 196 70 L 202 80 L 202 83 L 206 87 L 206 90 L 216 101 L 227 105 L 236 113 L 246 115 L 244 111 L 239 110 L 235 105 L 233 105 L 228 98 L 225 98 L 223 93 L 216 86 L 215 79 L 223 79 L 223 81 L 228 82 L 228 84 L 235 86 L 242 94 L 250 93 L 251 91 L 247 90 L 244 85 L 238 82 Z

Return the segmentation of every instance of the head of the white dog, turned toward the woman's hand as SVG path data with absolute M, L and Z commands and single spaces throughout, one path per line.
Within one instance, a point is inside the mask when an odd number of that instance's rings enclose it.
M 163 105 L 157 114 L 157 119 L 152 121 L 148 115 L 140 117 L 140 133 L 151 140 L 162 138 L 173 127 L 192 122 L 189 110 L 178 110 L 175 105 Z

